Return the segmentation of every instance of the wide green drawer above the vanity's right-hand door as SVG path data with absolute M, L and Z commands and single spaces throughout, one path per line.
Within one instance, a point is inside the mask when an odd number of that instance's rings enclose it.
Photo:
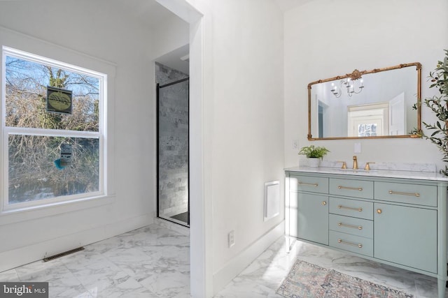
M 437 207 L 437 186 L 375 182 L 375 200 Z

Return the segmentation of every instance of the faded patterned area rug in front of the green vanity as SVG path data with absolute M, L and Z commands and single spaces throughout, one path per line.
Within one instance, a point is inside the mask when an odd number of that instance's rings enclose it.
M 290 298 L 412 298 L 405 292 L 387 288 L 341 272 L 297 260 L 276 291 Z

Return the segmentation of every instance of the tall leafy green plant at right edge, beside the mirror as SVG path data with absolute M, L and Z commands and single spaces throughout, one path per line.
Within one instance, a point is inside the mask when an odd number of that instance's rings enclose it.
M 435 124 L 423 122 L 431 132 L 430 135 L 423 137 L 433 142 L 442 151 L 442 161 L 448 162 L 448 50 L 444 52 L 443 61 L 437 61 L 437 67 L 429 73 L 430 88 L 437 88 L 440 95 L 425 98 L 423 101 L 423 104 L 435 113 L 437 121 Z M 440 172 L 448 176 L 448 167 L 445 165 L 445 169 Z

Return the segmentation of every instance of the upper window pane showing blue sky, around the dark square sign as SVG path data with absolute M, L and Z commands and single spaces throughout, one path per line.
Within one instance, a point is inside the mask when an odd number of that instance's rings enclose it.
M 6 126 L 99 131 L 99 79 L 6 56 Z M 72 91 L 72 114 L 47 112 L 47 86 Z

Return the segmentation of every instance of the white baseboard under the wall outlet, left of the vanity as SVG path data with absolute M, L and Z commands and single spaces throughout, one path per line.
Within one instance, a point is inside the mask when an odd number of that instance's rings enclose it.
M 219 270 L 213 276 L 214 295 L 222 290 L 225 285 L 230 283 L 235 276 L 241 273 L 258 256 L 271 246 L 279 237 L 285 234 L 285 222 L 281 221 L 272 230 L 262 235 L 255 243 L 241 251 L 235 258 L 232 258 L 223 269 Z

